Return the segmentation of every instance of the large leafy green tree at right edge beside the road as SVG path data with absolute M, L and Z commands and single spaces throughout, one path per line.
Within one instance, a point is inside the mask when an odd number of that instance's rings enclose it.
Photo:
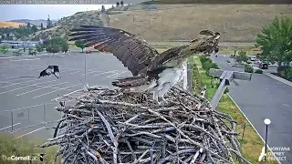
M 292 59 L 291 38 L 288 36 L 292 36 L 292 19 L 287 16 L 276 16 L 255 38 L 255 47 L 261 48 L 262 58 L 271 63 L 277 62 L 278 72 L 284 63 Z

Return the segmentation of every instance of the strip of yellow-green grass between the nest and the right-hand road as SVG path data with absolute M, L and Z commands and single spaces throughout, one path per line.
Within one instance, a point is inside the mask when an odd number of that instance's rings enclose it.
M 197 70 L 193 71 L 199 72 L 202 83 L 205 84 L 207 87 L 206 97 L 211 101 L 212 97 L 214 96 L 214 93 L 216 92 L 216 88 L 211 87 L 211 78 L 207 77 L 205 72 L 203 71 L 200 59 L 198 57 L 195 57 L 193 59 L 193 62 L 197 67 Z M 217 110 L 230 115 L 232 118 L 235 119 L 235 121 L 237 121 L 236 131 L 240 133 L 238 138 L 243 144 L 241 147 L 241 152 L 245 159 L 248 159 L 253 164 L 264 163 L 258 162 L 258 156 L 265 144 L 263 140 L 256 134 L 255 129 L 252 128 L 252 126 L 247 122 L 246 118 L 241 113 L 241 111 L 235 106 L 233 100 L 228 95 L 224 94 L 224 96 L 222 97 L 218 104 Z M 246 125 L 246 128 L 244 138 L 242 140 L 244 124 Z M 276 164 L 277 162 L 267 160 L 266 163 Z

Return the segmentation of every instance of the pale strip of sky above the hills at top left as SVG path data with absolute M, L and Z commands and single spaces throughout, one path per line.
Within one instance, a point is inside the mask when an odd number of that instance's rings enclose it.
M 105 5 L 106 9 L 111 5 Z M 101 5 L 0 5 L 0 21 L 13 19 L 60 19 L 87 10 L 99 10 Z

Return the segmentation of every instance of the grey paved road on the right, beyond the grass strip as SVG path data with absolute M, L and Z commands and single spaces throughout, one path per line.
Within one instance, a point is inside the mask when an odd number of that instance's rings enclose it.
M 224 56 L 214 57 L 221 69 L 243 71 L 243 68 L 230 67 Z M 266 75 L 253 74 L 252 81 L 236 81 L 240 86 L 234 84 L 230 87 L 229 95 L 245 113 L 258 133 L 265 138 L 266 126 L 264 119 L 271 119 L 268 127 L 267 143 L 270 148 L 288 148 L 290 151 L 274 150 L 284 152 L 279 157 L 283 164 L 292 163 L 292 87 L 287 86 L 274 78 Z M 260 153 L 260 152 L 259 152 Z

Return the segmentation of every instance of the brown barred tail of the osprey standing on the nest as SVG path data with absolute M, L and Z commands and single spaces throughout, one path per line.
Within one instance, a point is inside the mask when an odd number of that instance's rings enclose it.
M 130 88 L 131 91 L 146 91 L 151 88 L 148 77 L 122 77 L 111 82 L 114 87 Z M 156 84 L 156 83 L 155 83 Z

